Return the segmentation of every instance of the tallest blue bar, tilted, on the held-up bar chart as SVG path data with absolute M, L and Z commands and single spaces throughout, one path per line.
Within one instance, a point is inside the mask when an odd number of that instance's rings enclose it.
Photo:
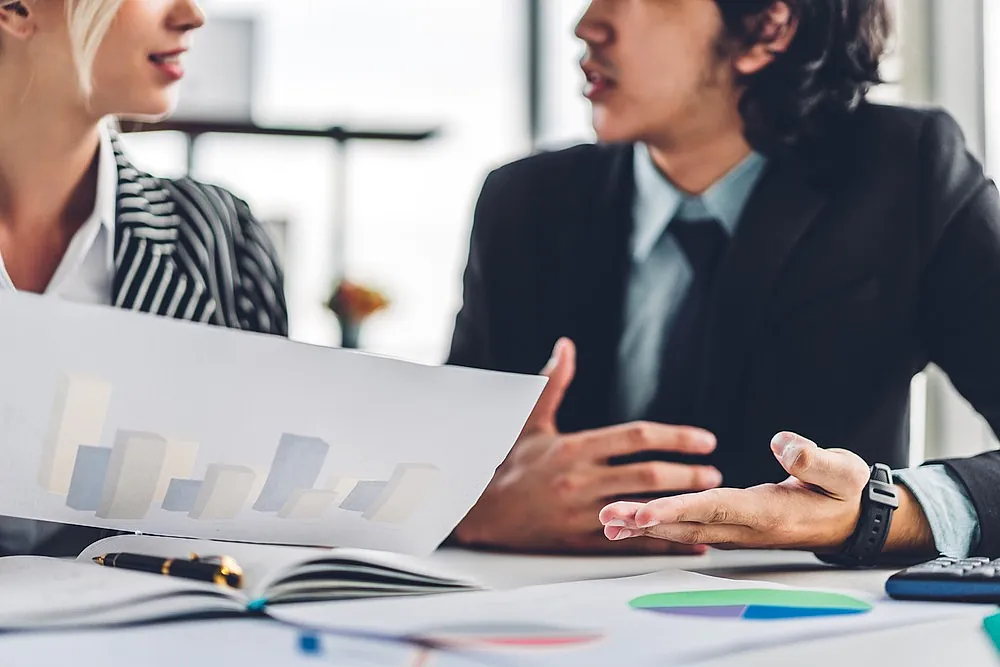
M 313 488 L 329 451 L 330 446 L 319 438 L 282 435 L 253 508 L 258 512 L 279 512 L 295 491 Z

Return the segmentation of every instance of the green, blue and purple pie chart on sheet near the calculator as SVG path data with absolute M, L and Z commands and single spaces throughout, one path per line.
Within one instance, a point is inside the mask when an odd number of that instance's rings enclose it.
M 744 588 L 643 595 L 633 609 L 692 618 L 781 621 L 820 616 L 865 614 L 872 606 L 839 593 Z

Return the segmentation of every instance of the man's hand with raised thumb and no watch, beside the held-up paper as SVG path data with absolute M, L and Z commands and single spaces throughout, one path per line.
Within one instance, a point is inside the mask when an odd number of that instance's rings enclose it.
M 507 460 L 455 531 L 459 542 L 543 552 L 700 552 L 654 540 L 611 544 L 598 511 L 612 498 L 710 489 L 722 481 L 709 466 L 644 462 L 610 466 L 644 451 L 708 454 L 712 434 L 700 429 L 632 423 L 573 434 L 556 428 L 556 413 L 575 372 L 572 342 L 560 340 L 542 371 L 549 383 Z

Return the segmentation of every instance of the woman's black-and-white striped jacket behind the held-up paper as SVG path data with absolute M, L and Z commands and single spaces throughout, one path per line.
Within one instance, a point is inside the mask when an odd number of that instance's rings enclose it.
M 286 336 L 284 276 L 273 243 L 246 202 L 216 186 L 140 172 L 116 136 L 112 145 L 118 163 L 112 304 Z M 22 552 L 19 543 L 26 538 L 35 542 L 34 553 L 75 556 L 114 534 L 10 517 L 0 526 L 8 532 L 7 539 L 0 535 L 0 553 Z

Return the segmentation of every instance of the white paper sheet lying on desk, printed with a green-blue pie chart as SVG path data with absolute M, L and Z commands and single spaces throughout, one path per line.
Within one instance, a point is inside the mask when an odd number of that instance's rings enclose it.
M 642 596 L 728 589 L 796 590 L 680 571 L 608 581 L 473 592 L 413 600 L 277 606 L 271 614 L 315 627 L 350 628 L 468 642 L 481 654 L 518 665 L 683 665 L 766 646 L 985 617 L 987 605 L 896 602 L 843 592 L 872 606 L 856 615 L 750 620 L 635 609 Z M 508 640 L 513 645 L 502 646 Z M 520 646 L 517 644 L 520 642 Z

